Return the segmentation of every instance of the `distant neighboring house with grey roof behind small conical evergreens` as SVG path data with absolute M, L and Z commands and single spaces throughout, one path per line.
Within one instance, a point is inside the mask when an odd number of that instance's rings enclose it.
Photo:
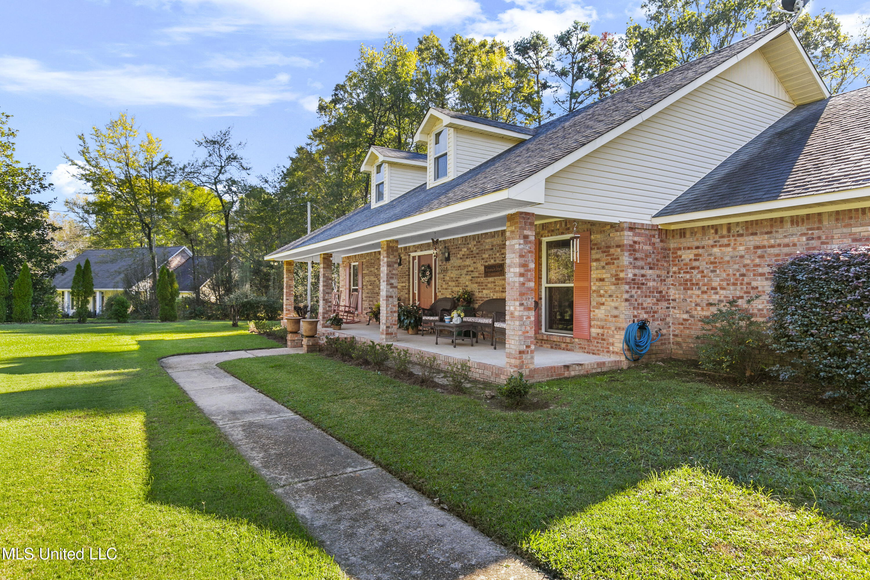
M 178 291 L 182 296 L 196 293 L 197 287 L 203 287 L 214 272 L 212 256 L 194 258 L 186 246 L 164 246 L 157 247 L 156 250 L 157 267 L 166 266 L 175 273 Z M 61 266 L 66 267 L 66 272 L 57 274 L 54 278 L 64 314 L 75 312 L 70 299 L 70 287 L 76 265 L 84 266 L 84 260 L 90 260 L 90 271 L 94 277 L 94 295 L 90 298 L 91 312 L 102 312 L 106 300 L 113 294 L 123 293 L 124 290 L 143 290 L 151 285 L 151 258 L 147 248 L 85 250 L 74 260 L 64 262 Z M 193 275 L 194 266 L 197 271 L 196 280 Z

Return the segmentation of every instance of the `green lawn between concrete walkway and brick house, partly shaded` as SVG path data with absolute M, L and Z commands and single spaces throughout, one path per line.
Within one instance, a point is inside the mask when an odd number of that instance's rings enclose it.
M 870 578 L 867 431 L 676 363 L 538 385 L 535 412 L 316 354 L 221 367 L 563 577 Z

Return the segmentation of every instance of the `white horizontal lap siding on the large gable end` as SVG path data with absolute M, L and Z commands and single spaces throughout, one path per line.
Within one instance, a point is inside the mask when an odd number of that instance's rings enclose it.
M 726 78 L 690 92 L 546 179 L 540 215 L 649 222 L 793 108 Z

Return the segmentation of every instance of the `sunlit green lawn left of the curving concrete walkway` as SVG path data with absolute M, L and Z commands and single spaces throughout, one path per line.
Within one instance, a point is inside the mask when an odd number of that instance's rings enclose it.
M 0 577 L 344 577 L 157 362 L 276 346 L 228 322 L 0 326 L 0 547 L 85 557 Z

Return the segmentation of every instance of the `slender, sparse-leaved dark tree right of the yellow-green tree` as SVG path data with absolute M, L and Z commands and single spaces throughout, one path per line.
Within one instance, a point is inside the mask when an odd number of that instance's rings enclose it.
M 208 190 L 218 200 L 224 219 L 227 260 L 231 262 L 232 212 L 244 191 L 245 176 L 251 171 L 242 156 L 245 144 L 243 141 L 233 142 L 231 127 L 211 136 L 203 135 L 203 138 L 197 139 L 196 144 L 204 155 L 184 165 L 184 178 L 193 185 Z M 232 291 L 232 279 L 230 280 Z

